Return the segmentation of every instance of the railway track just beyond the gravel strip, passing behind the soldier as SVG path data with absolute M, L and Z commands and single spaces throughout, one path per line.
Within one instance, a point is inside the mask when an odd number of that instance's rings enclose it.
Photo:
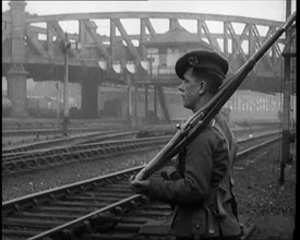
M 125 133 L 129 134 L 129 133 Z M 269 137 L 269 135 L 278 134 L 278 132 L 259 135 L 250 140 L 241 140 L 240 144 L 251 144 L 253 141 L 261 141 L 261 137 Z M 72 164 L 75 161 L 87 161 L 96 159 L 105 159 L 107 157 L 117 156 L 124 153 L 134 153 L 147 151 L 151 148 L 165 145 L 170 136 L 156 136 L 132 140 L 119 140 L 96 142 L 89 144 L 79 144 L 69 147 L 55 147 L 51 149 L 17 152 L 2 154 L 2 176 L 13 173 L 36 171 L 50 167 Z

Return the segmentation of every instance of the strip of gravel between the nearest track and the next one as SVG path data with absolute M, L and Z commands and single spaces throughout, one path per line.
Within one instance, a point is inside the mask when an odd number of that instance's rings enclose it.
M 57 166 L 47 170 L 2 178 L 2 202 L 64 184 L 100 177 L 127 168 L 144 165 L 159 149 L 86 163 Z

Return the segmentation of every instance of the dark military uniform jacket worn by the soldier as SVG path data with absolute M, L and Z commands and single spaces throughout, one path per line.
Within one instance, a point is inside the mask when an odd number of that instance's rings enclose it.
M 224 130 L 227 141 L 216 128 L 208 124 L 179 154 L 177 167 L 181 178 L 176 181 L 152 179 L 146 192 L 153 200 L 176 205 L 172 229 L 180 237 L 191 237 L 194 214 L 204 206 L 215 204 L 212 194 L 230 167 L 228 143 L 236 154 L 236 145 L 228 125 L 219 115 L 215 120 Z M 230 196 L 230 193 L 226 195 Z M 228 200 L 230 197 L 226 199 Z M 224 237 L 227 237 L 228 232 L 238 235 L 240 227 L 231 213 L 231 207 L 227 204 L 225 208 L 227 216 L 218 221 L 220 226 L 216 230 Z

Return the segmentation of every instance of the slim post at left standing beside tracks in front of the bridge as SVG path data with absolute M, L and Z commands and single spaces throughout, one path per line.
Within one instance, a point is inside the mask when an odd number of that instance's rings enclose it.
M 62 119 L 62 134 L 68 136 L 68 122 L 69 122 L 69 49 L 71 44 L 68 40 L 68 33 L 65 33 L 63 52 L 64 52 L 64 82 L 63 82 L 63 119 Z

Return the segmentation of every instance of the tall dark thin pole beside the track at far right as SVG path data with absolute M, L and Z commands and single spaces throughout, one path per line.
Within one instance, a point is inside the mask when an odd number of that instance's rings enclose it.
M 286 19 L 291 13 L 291 0 L 286 0 Z M 284 73 L 284 109 L 283 109 L 283 142 L 279 184 L 285 183 L 286 161 L 289 157 L 290 148 L 290 48 L 288 48 L 291 38 L 291 28 L 286 32 L 285 73 Z

